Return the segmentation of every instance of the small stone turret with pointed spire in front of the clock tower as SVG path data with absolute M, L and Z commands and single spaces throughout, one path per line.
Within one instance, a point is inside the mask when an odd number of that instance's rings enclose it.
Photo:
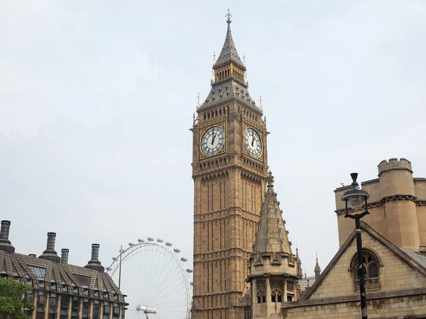
M 253 318 L 280 314 L 281 303 L 298 298 L 297 259 L 291 252 L 271 171 L 266 181 L 268 190 L 249 263 Z

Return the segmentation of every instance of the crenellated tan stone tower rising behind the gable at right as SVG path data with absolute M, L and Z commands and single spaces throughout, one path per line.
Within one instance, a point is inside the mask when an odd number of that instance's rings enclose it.
M 391 239 L 398 247 L 426 254 L 426 179 L 413 178 L 411 162 L 391 158 L 378 164 L 378 178 L 361 183 L 370 194 L 363 220 Z M 341 198 L 349 186 L 334 190 L 339 226 L 339 244 L 346 241 L 354 225 L 344 218 Z

